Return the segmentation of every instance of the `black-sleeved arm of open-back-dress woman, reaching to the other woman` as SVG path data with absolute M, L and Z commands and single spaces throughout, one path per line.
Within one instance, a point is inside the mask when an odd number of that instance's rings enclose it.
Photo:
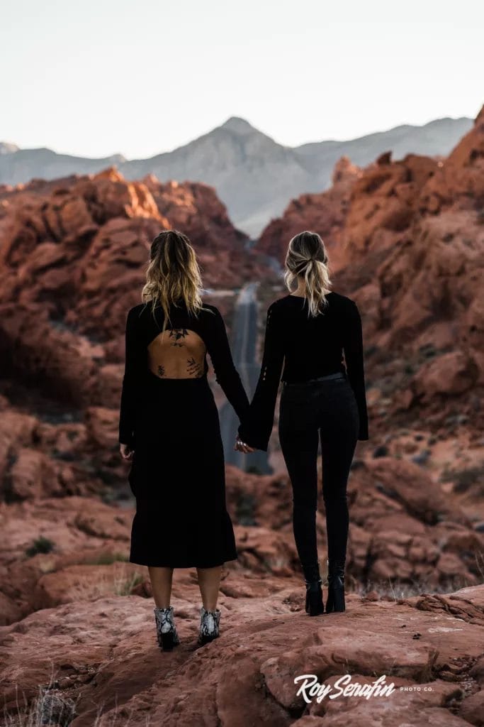
M 215 316 L 210 316 L 214 319 L 211 321 L 210 335 L 207 339 L 208 355 L 215 371 L 216 382 L 221 385 L 223 393 L 231 406 L 234 407 L 239 421 L 242 422 L 247 416 L 249 399 L 242 385 L 239 371 L 234 365 L 225 323 L 220 310 L 215 306 L 212 306 L 212 310 Z

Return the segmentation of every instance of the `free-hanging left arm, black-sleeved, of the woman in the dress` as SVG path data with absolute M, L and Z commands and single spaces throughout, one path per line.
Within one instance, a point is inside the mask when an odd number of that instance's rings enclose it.
M 134 422 L 139 377 L 146 367 L 146 348 L 139 334 L 139 308 L 131 308 L 126 318 L 125 369 L 121 391 L 119 441 L 134 449 Z

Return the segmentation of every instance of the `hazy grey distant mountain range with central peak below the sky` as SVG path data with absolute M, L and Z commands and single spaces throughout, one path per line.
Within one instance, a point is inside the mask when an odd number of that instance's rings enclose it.
M 115 165 L 127 179 L 155 174 L 162 182 L 205 182 L 216 188 L 231 220 L 254 238 L 294 197 L 329 187 L 335 162 L 343 155 L 365 166 L 382 152 L 446 156 L 472 127 L 472 119 L 437 119 L 424 126 L 395 126 L 348 141 L 321 141 L 288 147 L 276 143 L 245 119 L 232 116 L 221 126 L 173 151 L 149 159 L 121 155 L 88 159 L 49 149 L 18 149 L 0 142 L 0 183 L 32 177 L 54 179 L 89 174 Z

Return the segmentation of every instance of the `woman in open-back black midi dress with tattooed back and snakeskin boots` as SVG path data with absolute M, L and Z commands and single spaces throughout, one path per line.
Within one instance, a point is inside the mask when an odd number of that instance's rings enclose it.
M 140 305 L 126 320 L 126 368 L 119 441 L 131 461 L 136 498 L 130 562 L 148 566 L 158 643 L 179 643 L 173 619 L 174 568 L 197 568 L 202 595 L 200 643 L 216 638 L 221 566 L 237 559 L 226 510 L 216 380 L 242 422 L 249 401 L 234 366 L 221 313 L 202 304 L 201 278 L 189 239 L 166 230 L 152 242 Z

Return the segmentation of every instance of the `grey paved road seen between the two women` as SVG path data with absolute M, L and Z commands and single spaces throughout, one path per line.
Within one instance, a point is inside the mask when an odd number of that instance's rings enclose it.
M 240 291 L 231 327 L 232 356 L 249 399 L 253 396 L 261 371 L 261 364 L 256 361 L 258 306 L 255 291 L 257 286 L 257 283 L 249 283 Z M 230 465 L 240 467 L 241 470 L 254 469 L 261 474 L 272 473 L 266 452 L 255 451 L 253 454 L 242 454 L 242 452 L 234 451 L 239 419 L 231 405 L 225 403 L 219 414 L 225 461 Z

